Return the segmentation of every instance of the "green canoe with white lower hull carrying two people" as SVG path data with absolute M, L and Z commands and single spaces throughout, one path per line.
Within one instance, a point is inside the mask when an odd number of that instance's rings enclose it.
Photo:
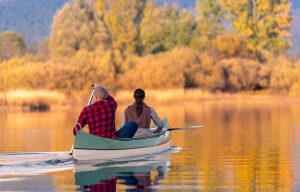
M 168 150 L 171 146 L 169 124 L 163 120 L 163 131 L 149 137 L 109 139 L 78 132 L 74 140 L 76 160 L 118 159 L 148 155 Z M 155 129 L 155 127 L 153 127 Z

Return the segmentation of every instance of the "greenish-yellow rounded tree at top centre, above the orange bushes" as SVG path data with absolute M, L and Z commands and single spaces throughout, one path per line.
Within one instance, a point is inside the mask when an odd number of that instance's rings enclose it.
M 157 7 L 149 2 L 141 23 L 143 53 L 159 53 L 176 46 L 189 45 L 193 33 L 193 16 L 177 5 Z

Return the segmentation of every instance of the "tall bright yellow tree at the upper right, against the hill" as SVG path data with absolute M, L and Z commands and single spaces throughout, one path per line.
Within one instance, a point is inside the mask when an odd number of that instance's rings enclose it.
M 262 62 L 263 50 L 285 52 L 291 45 L 290 0 L 220 0 L 232 26 Z

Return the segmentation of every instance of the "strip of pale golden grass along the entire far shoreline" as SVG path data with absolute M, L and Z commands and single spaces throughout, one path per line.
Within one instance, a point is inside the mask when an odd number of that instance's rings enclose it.
M 90 93 L 65 94 L 50 90 L 15 90 L 0 93 L 0 108 L 49 110 L 55 107 L 82 106 Z M 121 90 L 112 94 L 119 104 L 134 101 L 133 90 Z M 146 90 L 146 101 L 151 104 L 180 104 L 185 102 L 233 101 L 233 102 L 300 102 L 299 98 L 275 95 L 270 92 L 210 93 L 200 89 Z

